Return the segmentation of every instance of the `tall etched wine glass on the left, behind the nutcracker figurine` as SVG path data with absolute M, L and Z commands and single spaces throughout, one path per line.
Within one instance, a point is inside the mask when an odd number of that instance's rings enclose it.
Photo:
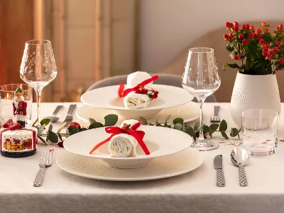
M 37 124 L 40 125 L 40 94 L 43 87 L 57 75 L 53 48 L 49 40 L 28 40 L 23 50 L 20 77 L 35 89 L 37 101 Z

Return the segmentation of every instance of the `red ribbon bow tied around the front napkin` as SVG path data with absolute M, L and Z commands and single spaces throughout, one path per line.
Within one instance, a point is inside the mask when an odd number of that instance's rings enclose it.
M 99 146 L 102 146 L 104 143 L 109 142 L 113 136 L 119 135 L 121 133 L 126 133 L 126 134 L 129 134 L 129 135 L 133 136 L 134 138 L 136 138 L 139 145 L 143 149 L 144 153 L 146 155 L 150 155 L 150 152 L 148 151 L 148 148 L 143 141 L 143 137 L 145 136 L 145 132 L 136 130 L 140 125 L 141 125 L 141 122 L 138 122 L 138 123 L 132 125 L 130 127 L 130 129 L 119 128 L 118 126 L 106 127 L 106 129 L 105 129 L 106 132 L 111 133 L 111 136 L 109 138 L 107 138 L 106 140 L 102 141 L 101 143 L 98 143 L 96 146 L 94 146 L 94 148 L 92 148 L 92 151 L 90 151 L 89 153 L 92 154 L 95 150 L 97 150 L 97 148 L 99 148 Z

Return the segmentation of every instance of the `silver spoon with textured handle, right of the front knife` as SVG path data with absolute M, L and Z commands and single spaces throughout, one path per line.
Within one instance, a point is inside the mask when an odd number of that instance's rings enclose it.
M 239 184 L 244 187 L 248 185 L 244 165 L 249 163 L 249 153 L 244 148 L 234 148 L 231 151 L 231 163 L 239 167 Z

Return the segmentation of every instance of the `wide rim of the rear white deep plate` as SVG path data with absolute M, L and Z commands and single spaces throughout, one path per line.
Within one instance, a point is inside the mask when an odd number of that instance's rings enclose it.
M 174 86 L 170 86 L 170 85 L 165 85 L 165 84 L 155 84 L 155 86 L 158 86 L 158 87 L 174 87 Z M 112 86 L 108 86 L 108 87 L 119 87 L 119 85 L 112 85 Z M 97 89 L 102 89 L 102 88 L 105 88 L 105 87 L 100 87 L 100 88 L 97 88 Z M 175 87 L 175 88 L 178 88 L 178 89 L 182 89 L 180 87 Z M 159 106 L 156 106 L 156 107 L 147 107 L 147 108 L 141 108 L 141 109 L 127 109 L 127 108 L 124 108 L 124 107 L 102 107 L 102 106 L 98 106 L 98 105 L 94 105 L 94 104 L 90 104 L 89 102 L 86 102 L 86 100 L 84 100 L 84 96 L 86 96 L 88 93 L 91 93 L 93 92 L 95 89 L 92 89 L 88 92 L 85 92 L 84 94 L 82 94 L 80 100 L 81 102 L 83 102 L 84 104 L 87 104 L 89 106 L 92 106 L 92 107 L 97 107 L 97 108 L 102 108 L 102 109 L 111 109 L 111 110 L 116 110 L 116 111 L 154 111 L 154 110 L 162 110 L 162 109 L 168 109 L 170 107 L 178 107 L 182 104 L 186 104 L 187 102 L 192 102 L 192 100 L 194 99 L 194 97 L 192 96 L 192 94 L 189 94 L 188 93 L 188 96 L 191 98 L 189 98 L 187 101 L 184 101 L 184 102 L 180 102 L 179 104 L 169 104 L 169 105 L 166 105 L 166 106 L 162 106 L 162 107 L 159 107 Z M 182 89 L 184 90 L 184 89 Z

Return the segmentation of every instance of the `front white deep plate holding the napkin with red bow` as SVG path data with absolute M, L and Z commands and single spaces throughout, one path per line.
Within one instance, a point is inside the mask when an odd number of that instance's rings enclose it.
M 89 154 L 94 146 L 109 138 L 104 128 L 89 129 L 76 133 L 64 141 L 63 145 L 67 151 L 77 155 L 104 160 L 114 168 L 140 168 L 148 165 L 151 160 L 165 155 L 172 155 L 192 145 L 192 137 L 182 131 L 169 129 L 160 126 L 141 126 L 138 130 L 144 131 L 143 141 L 146 143 L 150 155 L 145 155 L 141 146 L 137 145 L 136 157 L 115 158 L 111 157 L 108 151 L 109 143 L 100 146 L 97 151 Z

